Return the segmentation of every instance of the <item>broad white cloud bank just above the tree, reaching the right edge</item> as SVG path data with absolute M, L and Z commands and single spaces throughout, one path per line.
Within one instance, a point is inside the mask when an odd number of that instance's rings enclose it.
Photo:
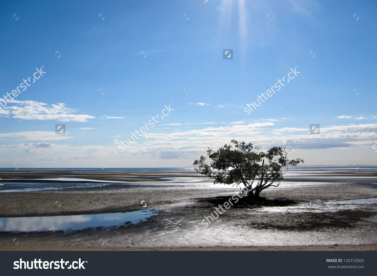
M 321 128 L 320 135 L 309 135 L 308 128 L 280 129 L 282 131 L 307 131 L 304 134 L 282 135 L 280 132 L 274 132 L 272 135 L 262 134 L 265 127 L 272 125 L 274 125 L 273 122 L 237 124 L 231 127 L 230 133 L 226 127 L 207 127 L 202 130 L 184 130 L 170 134 L 147 134 L 143 137 L 144 139 L 139 140 L 138 146 L 130 150 L 134 151 L 133 154 L 150 156 L 158 156 L 159 152 L 169 151 L 179 158 L 194 158 L 199 153 L 202 154 L 208 144 L 211 144 L 212 148 L 218 148 L 229 143 L 233 137 L 252 142 L 254 145 L 263 145 L 266 148 L 286 145 L 293 149 L 330 149 L 370 146 L 371 141 L 377 136 L 377 124 L 325 127 Z M 160 158 L 166 159 L 167 156 L 162 154 Z

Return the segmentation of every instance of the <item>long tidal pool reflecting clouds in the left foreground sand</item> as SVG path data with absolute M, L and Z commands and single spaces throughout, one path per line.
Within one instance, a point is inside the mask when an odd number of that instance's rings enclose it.
M 158 215 L 156 210 L 139 210 L 127 213 L 74 215 L 54 217 L 0 218 L 0 231 L 51 231 L 80 230 L 87 227 L 110 227 L 125 223 L 138 224 Z

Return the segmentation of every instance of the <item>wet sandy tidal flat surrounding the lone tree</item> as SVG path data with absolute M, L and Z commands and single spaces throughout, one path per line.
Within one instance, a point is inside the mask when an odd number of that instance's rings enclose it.
M 0 250 L 376 250 L 376 204 L 326 204 L 376 198 L 375 175 L 362 169 L 294 171 L 279 187 L 265 190 L 264 203 L 239 200 L 205 227 L 204 216 L 239 189 L 213 185 L 193 171 L 0 172 L 2 180 L 13 179 L 4 183 L 58 177 L 123 185 L 0 192 L 2 218 L 158 212 L 123 227 L 0 232 Z

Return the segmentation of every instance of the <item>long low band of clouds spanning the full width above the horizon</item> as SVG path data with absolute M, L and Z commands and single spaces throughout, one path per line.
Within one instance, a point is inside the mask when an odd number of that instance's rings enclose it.
M 72 160 L 88 159 L 92 160 L 103 158 L 109 154 L 120 154 L 124 159 L 124 155 L 138 156 L 140 158 L 157 157 L 160 159 L 194 159 L 204 154 L 207 147 L 216 149 L 229 143 L 231 139 L 236 137 L 237 140 L 251 142 L 254 145 L 262 145 L 264 149 L 272 146 L 286 145 L 292 149 L 334 149 L 335 147 L 342 151 L 344 148 L 358 148 L 368 147 L 369 151 L 373 145 L 373 141 L 377 136 L 377 124 L 359 124 L 359 125 L 345 125 L 345 126 L 331 126 L 320 129 L 320 134 L 310 135 L 308 129 L 304 128 L 282 128 L 283 131 L 306 131 L 305 133 L 287 133 L 279 131 L 271 131 L 271 126 L 274 122 L 254 122 L 250 124 L 235 124 L 229 128 L 210 127 L 206 125 L 199 130 L 175 130 L 172 133 L 164 133 L 163 130 L 153 128 L 153 132 L 149 132 L 143 137 L 140 137 L 131 146 L 127 146 L 126 152 L 123 156 L 119 153 L 116 147 L 120 143 L 120 138 L 113 140 L 111 146 L 81 146 L 78 147 L 69 143 L 68 145 L 56 145 L 49 143 L 48 139 L 44 141 L 37 141 L 35 143 L 20 143 L 15 145 L 2 145 L 1 151 L 8 156 L 17 156 L 17 151 L 22 152 L 20 159 L 25 156 L 26 152 L 33 151 L 38 154 L 35 155 L 36 161 L 47 160 L 61 164 L 67 162 L 69 164 Z M 161 131 L 161 132 L 160 132 Z M 159 133 L 160 132 L 160 133 Z M 272 134 L 271 134 L 272 133 Z M 34 136 L 33 136 L 34 135 Z M 54 132 L 25 132 L 25 133 L 7 133 L 1 134 L 1 137 L 21 137 L 24 140 L 38 140 L 36 138 L 44 138 L 54 135 Z M 64 136 L 54 136 L 58 139 L 67 139 Z M 30 139 L 32 138 L 32 139 Z M 13 139 L 15 140 L 15 139 Z M 53 140 L 53 139 L 50 139 Z M 124 140 L 124 139 L 122 139 Z M 89 153 L 91 156 L 88 157 Z M 143 157 L 144 156 L 144 157 Z M 121 158 L 120 157 L 120 158 Z M 39 159 L 40 158 L 40 159 Z M 113 158 L 113 157 L 112 157 Z M 117 158 L 117 157 L 115 157 Z M 131 158 L 132 159 L 132 158 Z M 94 159 L 93 159 L 94 160 Z M 93 161 L 92 160 L 92 161 Z M 94 161 L 93 161 L 94 162 Z M 352 162 L 353 163 L 353 162 Z M 64 163 L 65 164 L 65 163 Z M 98 163 L 96 163 L 98 165 Z

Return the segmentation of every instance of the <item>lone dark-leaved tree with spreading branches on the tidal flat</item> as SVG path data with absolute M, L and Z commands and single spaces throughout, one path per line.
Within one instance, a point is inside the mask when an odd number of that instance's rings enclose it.
M 258 199 L 259 194 L 275 182 L 283 180 L 283 175 L 287 171 L 287 166 L 297 166 L 302 159 L 288 160 L 287 154 L 291 150 L 286 150 L 285 146 L 274 146 L 267 150 L 261 151 L 262 146 L 253 146 L 252 143 L 238 142 L 231 140 L 232 145 L 225 144 L 217 151 L 208 148 L 207 156 L 210 164 L 207 164 L 207 157 L 201 156 L 195 160 L 196 171 L 214 179 L 213 183 L 244 185 L 244 192 L 248 198 Z M 218 172 L 213 172 L 217 170 Z

